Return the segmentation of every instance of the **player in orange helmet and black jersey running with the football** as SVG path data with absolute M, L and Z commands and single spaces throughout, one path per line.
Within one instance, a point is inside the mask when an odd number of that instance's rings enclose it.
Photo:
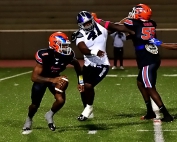
M 55 102 L 45 114 L 45 119 L 50 130 L 55 130 L 53 116 L 65 103 L 65 92 L 56 93 L 55 91 L 55 83 L 58 81 L 57 77 L 66 69 L 68 64 L 74 66 L 78 77 L 81 78 L 82 76 L 80 64 L 75 59 L 74 51 L 69 45 L 70 41 L 65 33 L 55 32 L 49 37 L 49 48 L 37 51 L 35 55 L 37 64 L 31 76 L 33 81 L 31 90 L 32 103 L 29 106 L 22 134 L 29 134 L 31 132 L 32 118 L 37 112 L 47 88 L 54 95 Z M 84 91 L 83 80 L 79 80 L 78 89 L 80 92 Z

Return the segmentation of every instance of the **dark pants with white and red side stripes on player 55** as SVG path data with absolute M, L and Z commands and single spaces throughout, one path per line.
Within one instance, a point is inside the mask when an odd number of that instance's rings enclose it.
M 145 88 L 155 87 L 159 66 L 160 62 L 144 66 L 140 69 L 137 80 L 143 83 Z

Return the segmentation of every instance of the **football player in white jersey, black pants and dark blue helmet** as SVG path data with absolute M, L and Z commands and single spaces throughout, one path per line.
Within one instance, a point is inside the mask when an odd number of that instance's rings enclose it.
M 87 120 L 93 116 L 94 87 L 102 81 L 109 70 L 109 59 L 106 53 L 106 42 L 108 36 L 107 21 L 104 26 L 96 23 L 93 16 L 88 11 L 81 11 L 77 15 L 79 30 L 72 34 L 72 41 L 76 40 L 76 45 L 84 56 L 83 80 L 84 92 L 81 99 L 84 110 L 78 117 L 79 121 Z M 117 26 L 117 30 L 132 32 L 126 27 Z

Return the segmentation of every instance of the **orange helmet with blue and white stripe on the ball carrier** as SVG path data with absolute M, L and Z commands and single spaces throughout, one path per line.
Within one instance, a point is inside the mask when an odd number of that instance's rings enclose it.
M 61 54 L 69 55 L 71 53 L 70 44 L 71 42 L 69 41 L 68 36 L 63 32 L 55 32 L 49 37 L 49 48 L 52 48 Z

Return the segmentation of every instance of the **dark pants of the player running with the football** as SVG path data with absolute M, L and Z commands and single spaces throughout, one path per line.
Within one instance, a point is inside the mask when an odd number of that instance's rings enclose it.
M 42 98 L 45 94 L 46 89 L 50 90 L 50 92 L 55 95 L 55 85 L 53 83 L 38 83 L 34 82 L 31 89 L 31 100 L 32 104 L 39 106 Z

